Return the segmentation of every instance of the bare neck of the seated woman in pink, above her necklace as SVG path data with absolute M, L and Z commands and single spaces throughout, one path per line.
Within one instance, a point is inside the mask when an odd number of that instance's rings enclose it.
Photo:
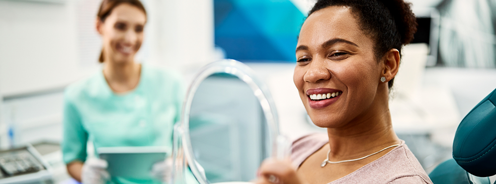
M 370 111 L 352 120 L 345 127 L 327 128 L 329 159 L 360 158 L 400 143 L 391 125 L 387 93 L 385 97 L 376 99 L 378 100 L 369 108 Z

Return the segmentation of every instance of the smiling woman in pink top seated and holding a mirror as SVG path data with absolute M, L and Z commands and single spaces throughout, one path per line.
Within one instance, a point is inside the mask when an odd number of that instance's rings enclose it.
M 293 81 L 327 134 L 294 141 L 292 162 L 266 160 L 259 183 L 432 183 L 394 133 L 388 105 L 416 26 L 403 0 L 318 0 L 300 30 Z

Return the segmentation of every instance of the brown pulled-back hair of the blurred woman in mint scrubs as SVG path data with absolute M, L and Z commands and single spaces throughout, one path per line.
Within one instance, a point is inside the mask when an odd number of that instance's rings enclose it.
M 102 4 L 100 5 L 100 9 L 98 9 L 98 14 L 97 17 L 100 19 L 100 21 L 105 22 L 105 19 L 112 13 L 112 10 L 116 8 L 117 6 L 127 3 L 129 5 L 135 6 L 139 10 L 143 11 L 143 13 L 146 16 L 146 10 L 143 4 L 139 0 L 104 0 L 102 1 Z M 100 58 L 98 59 L 99 62 L 103 63 L 103 49 L 102 52 L 100 53 Z

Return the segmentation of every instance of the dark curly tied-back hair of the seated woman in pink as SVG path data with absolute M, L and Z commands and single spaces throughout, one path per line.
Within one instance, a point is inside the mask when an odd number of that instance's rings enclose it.
M 375 41 L 374 53 L 378 61 L 393 48 L 401 53 L 401 46 L 410 43 L 417 32 L 411 3 L 403 0 L 318 0 L 308 16 L 331 6 L 351 8 L 362 31 Z M 393 79 L 388 82 L 389 88 Z

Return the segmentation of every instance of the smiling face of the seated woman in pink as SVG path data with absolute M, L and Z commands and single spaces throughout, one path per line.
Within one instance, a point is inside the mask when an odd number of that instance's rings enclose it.
M 348 7 L 327 7 L 306 19 L 293 80 L 315 125 L 339 128 L 366 121 L 382 71 L 373 46 Z

